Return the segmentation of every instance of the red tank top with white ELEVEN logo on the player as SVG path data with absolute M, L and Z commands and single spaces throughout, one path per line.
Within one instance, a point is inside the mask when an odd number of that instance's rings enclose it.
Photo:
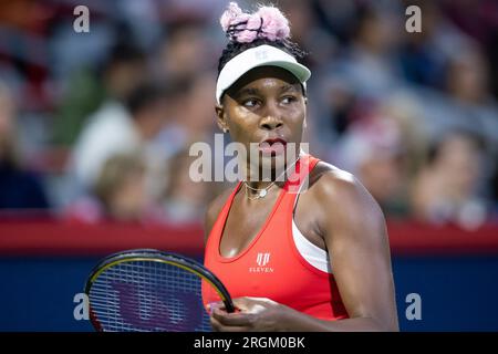
M 231 192 L 216 220 L 206 244 L 205 266 L 225 284 L 231 298 L 268 298 L 318 319 L 346 319 L 347 312 L 332 273 L 311 266 L 298 251 L 292 237 L 292 217 L 299 186 L 319 160 L 302 156 L 286 181 L 268 219 L 251 243 L 239 254 L 225 258 L 220 240 L 234 198 Z M 203 283 L 204 304 L 219 301 Z

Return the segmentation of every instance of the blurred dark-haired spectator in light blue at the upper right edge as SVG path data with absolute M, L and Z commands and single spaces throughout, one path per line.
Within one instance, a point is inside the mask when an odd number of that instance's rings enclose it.
M 480 174 L 489 189 L 490 176 L 497 168 L 498 106 L 490 94 L 487 61 L 477 45 L 465 45 L 448 60 L 444 88 L 445 94 L 417 91 L 424 103 L 419 121 L 430 142 L 455 129 L 480 136 L 486 143 Z

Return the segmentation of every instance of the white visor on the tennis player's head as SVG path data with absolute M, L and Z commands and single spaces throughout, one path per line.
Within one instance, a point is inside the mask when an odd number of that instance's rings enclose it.
M 279 66 L 291 72 L 305 90 L 305 81 L 310 79 L 311 71 L 298 63 L 291 54 L 276 46 L 262 44 L 243 51 L 225 64 L 216 83 L 216 102 L 220 104 L 224 92 L 248 71 L 267 65 Z

